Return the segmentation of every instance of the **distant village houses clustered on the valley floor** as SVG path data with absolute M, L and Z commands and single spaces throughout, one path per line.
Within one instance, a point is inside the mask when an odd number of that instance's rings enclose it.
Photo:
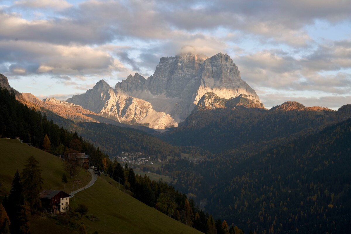
M 155 155 L 146 155 L 141 152 L 138 153 L 129 153 L 122 152 L 119 156 L 116 156 L 116 159 L 121 164 L 128 163 L 129 165 L 153 165 L 155 162 L 161 162 L 161 159 L 156 158 Z

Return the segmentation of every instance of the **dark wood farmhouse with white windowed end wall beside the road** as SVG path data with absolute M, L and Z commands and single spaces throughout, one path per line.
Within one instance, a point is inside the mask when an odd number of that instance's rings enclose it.
M 45 189 L 39 197 L 46 212 L 59 214 L 69 208 L 69 194 L 62 190 Z

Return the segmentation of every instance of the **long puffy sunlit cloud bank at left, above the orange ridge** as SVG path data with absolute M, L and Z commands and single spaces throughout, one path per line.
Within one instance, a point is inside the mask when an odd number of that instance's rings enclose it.
M 24 64 L 12 65 L 10 71 L 14 74 L 102 76 L 124 69 L 117 59 L 99 47 L 0 41 L 0 53 L 2 54 L 0 62 L 12 61 Z

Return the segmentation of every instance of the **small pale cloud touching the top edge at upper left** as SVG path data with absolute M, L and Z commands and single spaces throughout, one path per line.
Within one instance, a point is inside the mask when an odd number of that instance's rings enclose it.
M 16 7 L 55 8 L 60 10 L 72 6 L 65 0 L 20 0 L 15 1 L 14 5 Z

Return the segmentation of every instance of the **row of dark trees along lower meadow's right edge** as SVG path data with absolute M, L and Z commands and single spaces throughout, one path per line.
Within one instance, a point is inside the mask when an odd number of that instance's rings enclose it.
M 237 226 L 229 227 L 224 220 L 214 220 L 212 215 L 195 204 L 193 199 L 188 200 L 187 196 L 173 186 L 162 181 L 151 181 L 147 175 L 135 175 L 132 167 L 125 163 L 124 167 L 117 161 L 107 162 L 107 175 L 110 176 L 126 189 L 129 189 L 136 199 L 150 207 L 158 209 L 165 215 L 196 228 L 203 233 L 211 234 L 241 234 Z

